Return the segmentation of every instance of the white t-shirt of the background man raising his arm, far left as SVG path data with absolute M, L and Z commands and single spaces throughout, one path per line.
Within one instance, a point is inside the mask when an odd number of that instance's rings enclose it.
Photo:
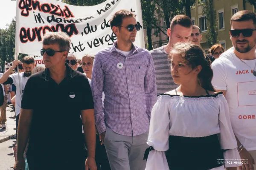
M 19 84 L 18 75 L 20 77 L 20 84 Z M 16 100 L 16 103 L 15 103 L 15 113 L 16 113 L 16 116 L 18 114 L 20 114 L 22 95 L 23 95 L 23 92 L 24 92 L 24 88 L 25 88 L 26 82 L 29 79 L 29 77 L 24 77 L 23 75 L 24 75 L 24 72 L 19 73 L 19 74 L 15 73 L 15 74 L 9 75 L 9 77 L 11 77 L 12 80 L 13 80 L 13 84 L 16 86 L 16 99 L 15 99 Z M 20 93 L 20 90 L 21 90 L 21 93 Z M 35 92 L 35 94 L 36 94 L 36 92 Z

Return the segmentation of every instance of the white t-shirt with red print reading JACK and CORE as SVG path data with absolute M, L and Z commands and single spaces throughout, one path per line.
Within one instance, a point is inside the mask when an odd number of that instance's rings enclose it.
M 212 85 L 227 91 L 233 131 L 247 150 L 256 150 L 256 77 L 253 75 L 256 59 L 242 61 L 232 50 L 215 59 Z

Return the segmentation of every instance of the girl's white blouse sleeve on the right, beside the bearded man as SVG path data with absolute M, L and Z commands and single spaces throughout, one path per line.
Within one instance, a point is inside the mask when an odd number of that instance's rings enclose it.
M 219 126 L 220 126 L 220 144 L 221 149 L 227 150 L 224 152 L 225 167 L 238 167 L 241 164 L 228 164 L 228 161 L 240 160 L 240 155 L 237 150 L 236 137 L 234 135 L 231 122 L 230 112 L 227 100 L 223 95 L 219 96 L 220 99 L 220 113 L 219 113 Z

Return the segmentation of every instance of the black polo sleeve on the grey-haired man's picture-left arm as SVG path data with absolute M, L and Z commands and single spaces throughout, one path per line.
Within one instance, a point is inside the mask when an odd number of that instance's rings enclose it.
M 35 77 L 29 77 L 26 82 L 24 93 L 21 100 L 22 109 L 33 109 L 35 106 L 35 91 L 36 91 L 36 81 Z

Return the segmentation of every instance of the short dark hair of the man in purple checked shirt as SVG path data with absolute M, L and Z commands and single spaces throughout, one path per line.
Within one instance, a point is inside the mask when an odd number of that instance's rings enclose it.
M 131 11 L 128 11 L 126 9 L 117 11 L 115 14 L 113 14 L 113 17 L 110 19 L 111 29 L 113 28 L 113 26 L 121 26 L 122 20 L 125 17 L 135 17 L 135 15 L 134 15 L 134 13 L 132 13 Z

